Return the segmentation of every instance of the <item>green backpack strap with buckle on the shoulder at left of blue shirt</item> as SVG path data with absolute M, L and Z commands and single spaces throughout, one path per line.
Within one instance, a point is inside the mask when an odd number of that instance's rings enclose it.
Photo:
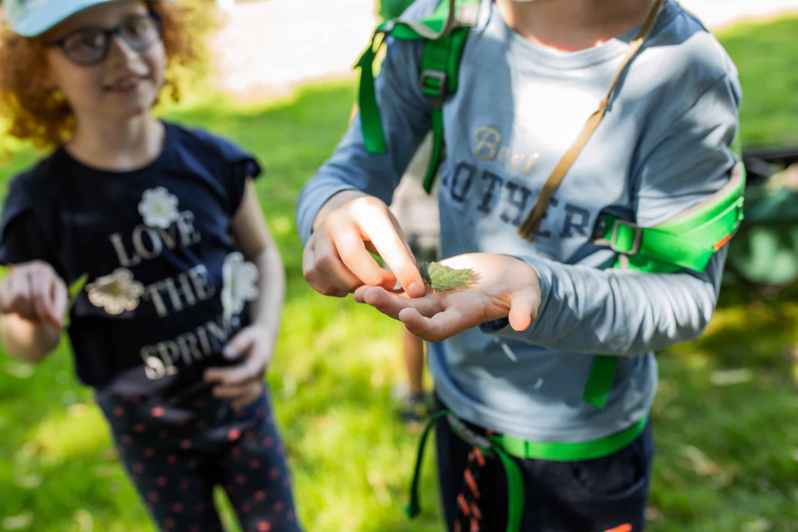
M 432 191 L 433 180 L 443 155 L 444 100 L 457 90 L 460 58 L 468 31 L 476 24 L 479 3 L 480 0 L 441 0 L 430 18 L 421 21 L 393 19 L 383 22 L 377 26 L 371 44 L 358 61 L 357 66 L 361 69 L 358 106 L 361 112 L 363 140 L 369 152 L 384 154 L 385 136 L 377 107 L 373 78 L 373 61 L 379 47 L 375 49 L 374 43 L 380 35 L 404 40 L 424 40 L 419 83 L 421 93 L 432 108 L 433 124 L 433 152 L 424 179 L 424 188 L 428 193 Z

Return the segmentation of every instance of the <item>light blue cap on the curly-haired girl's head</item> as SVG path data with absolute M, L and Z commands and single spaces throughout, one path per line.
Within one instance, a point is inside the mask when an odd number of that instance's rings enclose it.
M 2 3 L 11 28 L 22 37 L 35 37 L 78 11 L 107 2 L 117 0 L 3 0 Z

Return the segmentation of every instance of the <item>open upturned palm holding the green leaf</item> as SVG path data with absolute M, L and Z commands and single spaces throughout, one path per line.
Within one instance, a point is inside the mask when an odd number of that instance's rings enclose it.
M 516 331 L 529 327 L 540 306 L 540 281 L 535 270 L 518 258 L 472 253 L 440 261 L 455 269 L 470 268 L 471 286 L 448 292 L 427 287 L 422 298 L 392 294 L 382 287 L 361 286 L 356 301 L 368 303 L 426 341 L 439 342 L 484 323 L 509 317 Z

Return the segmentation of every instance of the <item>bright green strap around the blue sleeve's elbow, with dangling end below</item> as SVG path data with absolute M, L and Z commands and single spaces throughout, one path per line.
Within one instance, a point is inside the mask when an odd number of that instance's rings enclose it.
M 733 145 L 737 164 L 721 190 L 697 207 L 657 227 L 638 227 L 614 216 L 600 222 L 595 243 L 618 253 L 614 268 L 673 273 L 682 268 L 703 271 L 712 255 L 733 237 L 743 219 L 745 165 L 739 136 Z M 583 400 L 604 408 L 618 366 L 618 357 L 597 355 Z

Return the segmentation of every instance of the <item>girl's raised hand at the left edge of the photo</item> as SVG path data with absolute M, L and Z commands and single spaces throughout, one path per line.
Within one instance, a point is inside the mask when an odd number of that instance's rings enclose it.
M 17 314 L 36 325 L 63 329 L 69 304 L 66 283 L 53 266 L 44 261 L 22 262 L 13 266 L 0 282 L 0 313 Z

